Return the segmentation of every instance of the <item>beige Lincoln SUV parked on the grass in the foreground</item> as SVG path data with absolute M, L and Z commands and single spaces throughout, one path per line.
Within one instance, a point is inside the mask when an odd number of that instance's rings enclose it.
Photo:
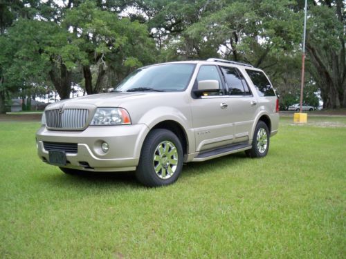
M 64 173 L 136 171 L 146 186 L 172 184 L 183 163 L 245 151 L 264 157 L 279 102 L 264 72 L 223 59 L 140 68 L 113 93 L 46 107 L 38 155 Z

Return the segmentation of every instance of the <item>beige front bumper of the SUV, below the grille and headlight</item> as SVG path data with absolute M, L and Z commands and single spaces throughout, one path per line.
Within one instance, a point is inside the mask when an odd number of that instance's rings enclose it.
M 84 131 L 49 131 L 45 126 L 36 133 L 37 153 L 49 161 L 44 142 L 77 143 L 77 153 L 66 153 L 66 168 L 85 171 L 133 171 L 138 165 L 140 148 L 149 128 L 145 124 L 89 126 Z M 109 144 L 104 153 L 102 142 Z

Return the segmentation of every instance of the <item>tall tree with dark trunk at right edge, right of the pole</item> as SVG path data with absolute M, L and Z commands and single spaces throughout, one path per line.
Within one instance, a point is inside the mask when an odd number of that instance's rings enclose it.
M 309 9 L 310 72 L 321 90 L 324 108 L 346 107 L 345 2 L 319 2 Z

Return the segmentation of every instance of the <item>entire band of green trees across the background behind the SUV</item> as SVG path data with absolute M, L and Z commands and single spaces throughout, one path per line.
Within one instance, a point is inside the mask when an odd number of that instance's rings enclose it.
M 57 90 L 64 99 L 77 84 L 99 93 L 139 66 L 209 57 L 264 69 L 286 106 L 299 95 L 303 7 L 298 0 L 1 1 L 0 110 L 10 93 Z M 325 107 L 346 106 L 345 3 L 309 0 L 308 12 L 305 83 L 314 90 L 305 96 L 315 102 L 319 92 Z

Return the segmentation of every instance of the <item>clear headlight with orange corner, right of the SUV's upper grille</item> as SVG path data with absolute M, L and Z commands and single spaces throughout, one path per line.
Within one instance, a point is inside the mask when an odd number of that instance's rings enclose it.
M 131 124 L 129 113 L 123 108 L 97 108 L 90 125 Z

